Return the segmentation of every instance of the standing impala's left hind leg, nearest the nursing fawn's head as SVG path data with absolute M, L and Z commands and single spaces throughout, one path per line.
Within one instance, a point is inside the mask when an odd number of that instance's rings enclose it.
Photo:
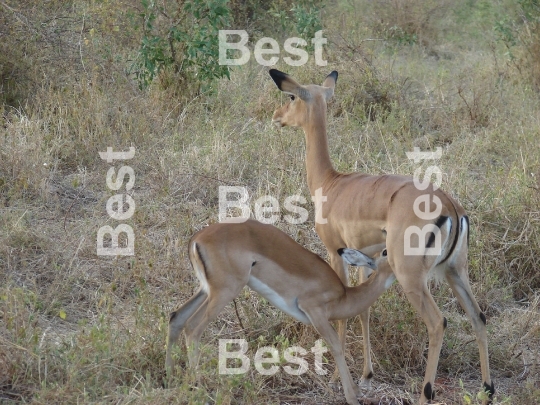
M 409 274 L 410 273 L 411 272 L 409 272 Z M 400 279 L 400 277 L 397 276 L 397 278 L 402 285 L 409 302 L 422 317 L 428 330 L 428 359 L 424 383 L 422 385 L 422 395 L 420 397 L 421 405 L 428 404 L 435 398 L 434 382 L 441 353 L 444 328 L 446 327 L 446 319 L 442 316 L 435 300 L 431 296 L 427 287 L 427 281 L 424 277 L 412 277 L 409 279 L 402 277 Z

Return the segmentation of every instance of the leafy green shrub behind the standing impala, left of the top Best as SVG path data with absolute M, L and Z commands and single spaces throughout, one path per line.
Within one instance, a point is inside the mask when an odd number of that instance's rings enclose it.
M 219 64 L 218 32 L 230 23 L 228 0 L 190 0 L 158 5 L 142 0 L 143 36 L 132 65 L 139 86 L 148 86 L 160 71 L 172 69 L 182 83 L 198 87 L 229 77 Z

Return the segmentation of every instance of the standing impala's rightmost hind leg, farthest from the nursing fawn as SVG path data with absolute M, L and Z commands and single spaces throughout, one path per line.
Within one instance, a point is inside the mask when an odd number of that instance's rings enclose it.
M 480 310 L 480 307 L 472 294 L 466 266 L 461 266 L 459 269 L 449 269 L 446 272 L 446 280 L 450 284 L 459 304 L 467 313 L 476 335 L 476 342 L 478 343 L 478 350 L 480 351 L 480 367 L 482 369 L 484 390 L 488 392 L 489 396 L 489 400 L 486 399 L 482 402 L 486 405 L 491 403 L 491 399 L 495 393 L 495 386 L 489 372 L 486 316 Z

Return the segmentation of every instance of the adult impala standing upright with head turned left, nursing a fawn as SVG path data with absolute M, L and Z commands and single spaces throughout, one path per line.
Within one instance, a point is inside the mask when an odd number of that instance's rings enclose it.
M 315 229 L 328 249 L 332 268 L 347 284 L 346 264 L 337 254 L 337 249 L 342 246 L 362 249 L 386 241 L 389 264 L 407 298 L 427 326 L 429 350 L 420 403 L 425 404 L 435 396 L 433 384 L 446 327 L 446 319 L 429 292 L 427 281 L 430 277 L 445 278 L 469 316 L 480 350 L 484 389 L 491 398 L 494 386 L 489 373 L 486 317 L 469 285 L 469 220 L 464 209 L 451 196 L 429 184 L 429 176 L 426 176 L 428 179 L 425 183 L 417 183 L 417 187 L 413 178 L 406 176 L 336 172 L 328 153 L 326 112 L 338 73 L 330 73 L 322 86 L 303 86 L 275 69 L 270 70 L 270 76 L 278 88 L 291 98 L 275 111 L 273 121 L 280 127 L 292 126 L 304 130 L 308 187 L 313 196 L 326 197 L 326 201 L 316 207 L 316 218 L 320 220 L 316 221 Z M 423 209 L 419 201 L 423 202 Z M 433 213 L 436 213 L 435 217 L 430 215 Z M 417 232 L 426 229 L 434 232 Z M 409 247 L 415 243 L 417 250 L 422 250 L 420 254 L 411 254 Z M 438 254 L 432 254 L 437 245 Z M 364 279 L 364 272 L 360 272 L 360 280 Z M 360 314 L 360 319 L 364 337 L 362 376 L 364 384 L 369 387 L 373 376 L 369 309 Z M 339 334 L 344 344 L 344 322 L 339 325 Z

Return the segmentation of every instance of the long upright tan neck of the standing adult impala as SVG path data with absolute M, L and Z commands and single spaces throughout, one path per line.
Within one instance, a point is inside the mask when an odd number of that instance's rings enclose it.
M 326 135 L 326 108 L 311 109 L 312 117 L 303 128 L 306 135 L 306 171 L 309 191 L 322 187 L 324 181 L 335 173 L 328 153 L 328 137 Z

